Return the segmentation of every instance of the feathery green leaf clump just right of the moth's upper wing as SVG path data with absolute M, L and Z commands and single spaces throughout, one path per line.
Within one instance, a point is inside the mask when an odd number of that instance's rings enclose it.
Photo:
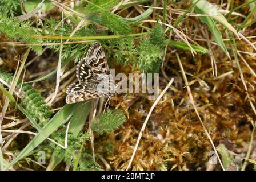
M 157 24 L 150 33 L 149 39 L 143 39 L 141 44 L 135 47 L 133 38 L 110 40 L 113 57 L 118 64 L 129 65 L 134 61 L 133 68 L 145 73 L 157 73 L 162 63 L 163 46 L 165 46 L 165 34 L 161 24 Z

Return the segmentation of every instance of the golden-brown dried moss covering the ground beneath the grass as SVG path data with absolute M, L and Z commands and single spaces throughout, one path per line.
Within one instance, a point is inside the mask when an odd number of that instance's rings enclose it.
M 65 5 L 70 6 L 69 1 L 64 2 Z M 163 7 L 163 1 L 160 1 L 160 3 L 158 1 L 152 2 L 152 6 Z M 168 9 L 171 8 L 177 11 L 186 10 L 191 5 L 189 1 L 167 2 Z M 227 5 L 230 5 L 230 1 L 225 1 L 223 4 L 221 2 L 223 1 L 214 1 L 222 9 L 226 9 Z M 242 1 L 234 1 L 234 7 L 243 3 Z M 151 2 L 144 3 L 143 5 L 150 6 Z M 135 17 L 142 14 L 145 10 L 146 7 L 134 5 L 123 9 L 122 12 L 118 10 L 117 14 L 122 17 Z M 57 8 L 51 10 L 47 13 L 47 18 L 54 15 L 55 18 L 61 19 L 59 11 Z M 250 13 L 250 7 L 245 6 L 236 12 L 247 16 Z M 159 20 L 162 21 L 162 16 L 162 9 L 154 9 L 148 20 L 157 20 L 157 17 L 159 17 Z M 166 23 L 173 25 L 180 16 L 177 13 L 167 11 Z M 237 18 L 235 23 L 242 23 L 243 20 L 244 18 Z M 155 26 L 155 22 L 144 22 L 142 24 L 149 28 Z M 181 28 L 180 30 L 182 28 L 185 30 L 184 28 L 186 28 L 187 32 L 185 33 L 189 38 L 200 46 L 210 49 L 210 52 L 213 53 L 197 53 L 193 56 L 189 51 L 183 51 L 172 46 L 167 47 L 163 67 L 159 69 L 160 90 L 166 87 L 171 78 L 174 78 L 174 84 L 167 90 L 150 115 L 146 130 L 142 134 L 132 163 L 131 169 L 133 170 L 221 169 L 219 165 L 210 167 L 209 152 L 213 151 L 213 147 L 191 104 L 189 92 L 186 89 L 187 85 L 183 81 L 181 68 L 176 56 L 177 53 L 186 72 L 195 106 L 215 147 L 224 144 L 231 156 L 234 156 L 234 158 L 235 156 L 245 158 L 249 150 L 251 135 L 254 135 L 254 138 L 256 137 L 256 134 L 252 133 L 255 127 L 256 113 L 254 113 L 250 104 L 251 101 L 255 105 L 256 96 L 256 77 L 255 73 L 252 72 L 256 70 L 255 50 L 244 40 L 236 39 L 238 60 L 243 75 L 242 79 L 247 85 L 246 93 L 245 85 L 241 79 L 241 73 L 239 72 L 230 44 L 226 44 L 226 46 L 231 59 L 214 43 L 211 32 L 206 24 L 200 22 L 198 17 L 189 15 L 182 20 L 179 26 L 177 27 L 178 30 L 179 28 Z M 98 24 L 95 24 L 95 27 L 97 30 L 103 28 Z M 220 25 L 218 27 L 225 41 L 231 43 L 232 39 L 225 36 L 225 28 Z M 134 26 L 133 31 L 142 32 L 145 30 Z M 243 28 L 242 34 L 246 37 L 255 36 L 255 24 Z M 168 37 L 169 31 L 166 32 L 166 39 Z M 0 40 L 1 42 L 9 41 L 5 35 L 1 35 Z M 252 43 L 255 42 L 255 38 L 249 38 L 249 40 Z M 139 43 L 139 41 L 139 39 L 136 39 L 136 43 Z M 25 47 L 15 46 L 15 42 L 0 44 L 1 69 L 14 73 L 17 69 L 18 61 L 23 59 L 25 51 Z M 214 62 L 211 60 L 214 60 Z M 30 61 L 32 61 L 31 64 Z M 25 82 L 45 76 L 53 71 L 58 64 L 58 53 L 55 53 L 52 49 L 46 49 L 41 56 L 31 52 L 26 64 L 29 65 L 25 67 L 26 71 L 21 75 L 21 78 L 24 75 L 23 81 Z M 110 58 L 110 65 L 117 72 L 126 74 L 130 72 L 139 73 L 138 69 L 130 69 L 130 65 L 116 65 L 114 57 Z M 250 65 L 251 69 L 248 65 Z M 65 75 L 66 77 L 61 81 L 60 87 L 63 89 L 59 89 L 51 109 L 58 109 L 65 105 L 66 94 L 64 88 L 75 80 L 74 69 L 72 69 L 74 66 L 71 62 L 66 66 L 65 72 L 70 72 L 70 74 Z M 43 97 L 47 98 L 54 92 L 55 75 L 46 80 L 35 82 L 32 86 Z M 250 98 L 248 98 L 248 94 Z M 5 97 L 3 97 L 2 92 L 0 92 L 0 96 L 2 108 L 5 103 Z M 153 100 L 147 99 L 146 94 L 118 94 L 111 98 L 110 109 L 122 109 L 127 117 L 127 121 L 118 130 L 111 133 L 103 135 L 94 134 L 95 158 L 102 169 L 125 170 L 127 168 L 139 131 L 153 103 Z M 8 125 L 11 125 L 11 127 Z M 2 129 L 35 132 L 35 129 L 29 125 L 29 119 L 26 119 L 25 115 L 15 105 L 9 105 L 2 122 Z M 86 130 L 85 128 L 83 131 Z M 29 140 L 33 138 L 33 135 L 3 133 L 3 138 L 7 143 L 9 142 L 7 146 L 5 144 L 2 147 L 5 150 L 3 152 L 4 158 L 11 161 L 17 155 L 15 151 L 21 151 Z M 256 157 L 255 146 L 254 139 L 249 157 L 254 161 Z M 92 152 L 90 142 L 86 143 L 86 152 L 89 154 Z M 47 163 L 49 163 L 49 160 L 50 156 L 47 158 Z M 22 161 L 24 162 L 24 160 Z M 240 168 L 242 167 L 241 161 L 241 159 L 235 161 Z M 38 169 L 39 167 L 37 165 L 33 167 L 32 165 L 23 164 L 21 168 Z M 15 167 L 15 169 L 21 168 Z M 65 169 L 65 163 L 59 164 L 56 169 Z M 253 163 L 247 164 L 246 169 L 252 170 Z

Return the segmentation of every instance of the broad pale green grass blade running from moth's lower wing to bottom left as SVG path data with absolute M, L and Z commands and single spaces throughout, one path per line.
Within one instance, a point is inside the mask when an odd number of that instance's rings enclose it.
M 19 155 L 7 166 L 7 168 L 13 166 L 22 158 L 29 155 L 31 151 L 34 150 L 40 143 L 42 143 L 50 134 L 52 134 L 59 126 L 68 121 L 75 109 L 74 104 L 66 104 L 61 110 L 58 111 L 57 114 L 47 123 L 45 127 L 43 127 L 42 132 L 39 132 L 35 137 L 27 144 L 25 148 L 19 153 Z

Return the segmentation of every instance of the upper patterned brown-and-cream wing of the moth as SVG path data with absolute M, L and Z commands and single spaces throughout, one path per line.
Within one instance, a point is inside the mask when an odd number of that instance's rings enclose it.
M 101 44 L 96 42 L 91 46 L 86 57 L 79 61 L 77 65 L 77 78 L 80 83 L 98 83 L 100 81 L 97 78 L 101 73 L 110 75 L 110 69 Z

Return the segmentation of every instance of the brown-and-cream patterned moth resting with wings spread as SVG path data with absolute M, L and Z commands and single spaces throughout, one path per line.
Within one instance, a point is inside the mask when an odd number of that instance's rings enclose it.
M 113 79 L 104 49 L 98 42 L 94 43 L 86 57 L 79 61 L 76 75 L 78 84 L 71 84 L 67 88 L 67 104 L 110 96 Z

